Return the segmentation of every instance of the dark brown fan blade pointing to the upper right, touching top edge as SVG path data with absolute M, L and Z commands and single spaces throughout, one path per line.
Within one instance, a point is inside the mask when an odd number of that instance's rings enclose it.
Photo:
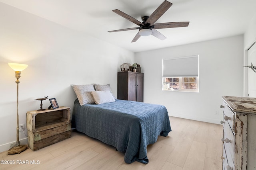
M 170 7 L 172 6 L 172 3 L 165 0 L 156 10 L 149 16 L 148 20 L 146 20 L 146 24 L 150 23 L 150 25 L 153 25 Z

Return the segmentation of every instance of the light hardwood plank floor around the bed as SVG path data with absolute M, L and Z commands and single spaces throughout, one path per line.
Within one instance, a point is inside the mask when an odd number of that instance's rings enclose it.
M 69 139 L 20 154 L 0 153 L 1 170 L 221 170 L 222 125 L 170 117 L 172 132 L 148 146 L 148 164 L 124 162 L 114 147 L 72 131 Z M 17 162 L 18 160 L 18 162 Z M 27 162 L 28 164 L 26 164 Z M 31 164 L 39 163 L 39 164 Z M 37 162 L 39 161 L 39 162 Z

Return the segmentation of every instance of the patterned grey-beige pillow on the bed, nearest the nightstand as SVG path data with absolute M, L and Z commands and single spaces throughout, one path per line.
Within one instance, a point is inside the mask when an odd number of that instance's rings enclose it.
M 85 104 L 93 104 L 94 103 L 94 99 L 93 99 L 91 92 L 95 91 L 95 90 L 94 90 L 94 87 L 92 84 L 88 84 L 88 85 L 71 84 L 71 86 L 72 86 L 74 92 L 76 93 L 76 96 L 77 96 L 78 101 L 81 106 L 83 106 Z

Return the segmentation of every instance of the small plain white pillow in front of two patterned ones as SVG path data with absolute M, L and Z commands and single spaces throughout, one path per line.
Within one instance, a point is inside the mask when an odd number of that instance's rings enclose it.
M 111 103 L 115 102 L 116 100 L 110 93 L 110 91 L 92 91 L 92 96 L 94 98 L 94 102 L 96 104 L 104 104 L 104 103 Z

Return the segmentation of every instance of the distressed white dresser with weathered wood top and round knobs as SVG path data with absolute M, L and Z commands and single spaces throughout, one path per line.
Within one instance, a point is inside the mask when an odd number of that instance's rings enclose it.
M 256 98 L 222 98 L 223 170 L 256 170 Z

